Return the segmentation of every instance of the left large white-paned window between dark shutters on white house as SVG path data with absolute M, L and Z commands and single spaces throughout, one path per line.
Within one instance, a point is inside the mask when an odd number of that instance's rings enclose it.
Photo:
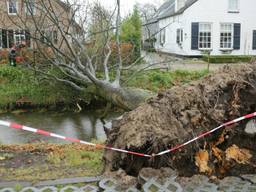
M 211 49 L 212 47 L 212 24 L 199 24 L 199 49 Z

